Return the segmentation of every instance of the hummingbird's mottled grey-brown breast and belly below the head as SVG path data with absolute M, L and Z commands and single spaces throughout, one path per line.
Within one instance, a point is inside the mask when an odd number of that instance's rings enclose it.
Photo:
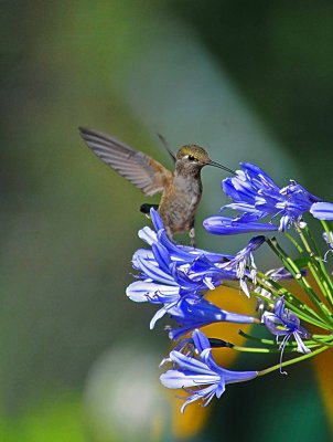
M 202 196 L 200 177 L 174 176 L 160 202 L 160 215 L 166 232 L 187 232 L 194 225 L 194 215 Z

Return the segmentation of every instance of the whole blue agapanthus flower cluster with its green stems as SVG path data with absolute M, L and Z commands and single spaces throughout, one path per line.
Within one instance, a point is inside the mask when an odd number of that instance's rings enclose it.
M 151 209 L 154 229 L 146 227 L 139 231 L 147 248 L 138 250 L 132 257 L 137 281 L 128 286 L 128 297 L 160 306 L 150 322 L 151 329 L 163 316 L 174 324 L 168 325 L 166 329 L 170 339 L 178 343 L 163 360 L 162 365 L 168 364 L 170 368 L 160 379 L 168 388 L 181 388 L 187 392 L 182 411 L 196 400 L 206 406 L 214 396 L 219 398 L 228 383 L 247 381 L 273 370 L 284 372 L 284 366 L 333 346 L 333 283 L 325 267 L 329 252 L 333 250 L 333 234 L 327 222 L 333 219 L 333 204 L 321 201 L 292 180 L 279 188 L 255 165 L 241 164 L 241 169 L 222 183 L 224 192 L 232 199 L 222 210 L 232 209 L 240 214 L 236 218 L 211 217 L 204 221 L 204 227 L 215 234 L 265 232 L 266 236 L 251 238 L 235 255 L 180 245 L 169 239 L 158 211 Z M 321 220 L 324 228 L 323 238 L 329 245 L 324 257 L 303 220 L 307 212 Z M 268 222 L 261 222 L 267 217 Z M 279 222 L 275 223 L 278 217 Z M 297 238 L 287 232 L 290 225 L 294 225 Z M 297 259 L 289 256 L 276 238 L 269 238 L 272 231 L 291 241 L 299 253 Z M 254 252 L 262 244 L 278 256 L 279 269 L 258 271 Z M 307 271 L 316 282 L 315 288 L 307 278 Z M 299 284 L 309 303 L 298 299 L 283 285 L 286 278 L 293 278 Z M 255 296 L 257 309 L 254 315 L 229 312 L 207 301 L 206 294 L 221 285 L 239 287 L 238 296 Z M 247 335 L 249 341 L 255 343 L 253 347 L 223 340 L 216 344 L 216 339 L 214 347 L 222 351 L 228 347 L 236 351 L 262 354 L 265 346 L 265 352 L 280 352 L 279 364 L 250 371 L 221 367 L 212 355 L 213 339 L 198 328 L 222 322 L 265 327 L 275 339 Z M 313 326 L 316 327 L 315 335 L 311 334 Z M 319 329 L 322 333 L 318 333 Z M 190 337 L 184 337 L 187 334 Z M 284 354 L 293 352 L 301 356 L 282 360 Z

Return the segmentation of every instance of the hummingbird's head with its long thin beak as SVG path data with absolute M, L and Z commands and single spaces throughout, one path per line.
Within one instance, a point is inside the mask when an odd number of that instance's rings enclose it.
M 234 170 L 212 161 L 206 150 L 197 145 L 182 146 L 176 152 L 176 169 L 181 172 L 200 171 L 204 166 L 215 166 L 236 175 Z

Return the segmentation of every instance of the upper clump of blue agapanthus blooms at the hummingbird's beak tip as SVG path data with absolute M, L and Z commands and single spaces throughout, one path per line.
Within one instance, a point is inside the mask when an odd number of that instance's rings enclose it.
M 212 233 L 232 234 L 277 229 L 284 231 L 292 222 L 302 225 L 303 212 L 320 201 L 293 180 L 280 189 L 258 166 L 249 162 L 240 162 L 240 166 L 243 170 L 237 170 L 236 177 L 228 177 L 222 183 L 224 192 L 233 200 L 222 210 L 233 209 L 243 214 L 235 219 L 221 217 L 219 221 L 218 217 L 206 219 L 204 227 Z M 258 222 L 268 215 L 271 220 L 281 215 L 279 225 Z

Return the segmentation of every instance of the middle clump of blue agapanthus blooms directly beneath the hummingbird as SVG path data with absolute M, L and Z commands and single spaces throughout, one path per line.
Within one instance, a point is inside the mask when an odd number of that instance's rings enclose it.
M 140 249 L 135 253 L 132 263 L 140 272 L 141 281 L 127 287 L 127 295 L 132 301 L 162 304 L 151 319 L 150 328 L 166 313 L 183 327 L 175 332 L 176 336 L 217 320 L 253 323 L 250 316 L 213 306 L 203 299 L 203 292 L 214 290 L 223 280 L 244 281 L 245 275 L 250 277 L 253 270 L 246 272 L 245 262 L 253 261 L 251 251 L 258 246 L 257 242 L 254 241 L 236 256 L 179 246 L 168 238 L 158 212 L 152 209 L 151 214 L 158 231 L 144 228 L 139 232 L 151 250 Z

